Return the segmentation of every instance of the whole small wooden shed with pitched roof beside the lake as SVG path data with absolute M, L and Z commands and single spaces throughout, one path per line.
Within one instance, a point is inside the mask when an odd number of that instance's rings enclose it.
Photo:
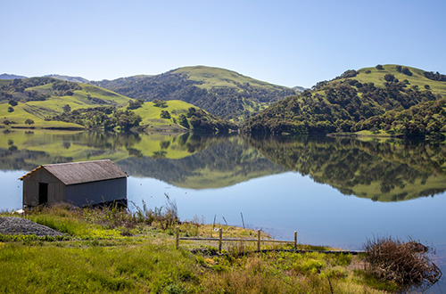
M 127 174 L 111 160 L 48 164 L 23 181 L 23 205 L 68 202 L 82 207 L 113 200 L 127 203 Z

